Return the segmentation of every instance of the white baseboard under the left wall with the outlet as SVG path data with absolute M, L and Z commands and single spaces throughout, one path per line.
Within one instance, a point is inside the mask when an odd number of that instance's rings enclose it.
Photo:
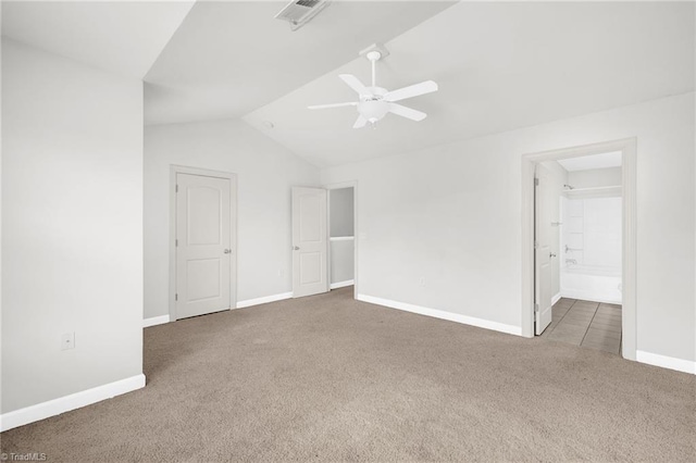
M 0 415 L 0 431 L 60 415 L 61 413 L 101 402 L 102 400 L 111 399 L 142 387 L 145 387 L 145 375 L 140 374 L 47 402 L 37 403 L 36 405 L 3 413 Z

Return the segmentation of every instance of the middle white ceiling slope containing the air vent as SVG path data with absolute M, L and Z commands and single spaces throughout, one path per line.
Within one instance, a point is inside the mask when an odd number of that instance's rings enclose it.
M 243 116 L 453 2 L 334 1 L 297 32 L 285 4 L 197 2 L 146 76 L 146 123 Z

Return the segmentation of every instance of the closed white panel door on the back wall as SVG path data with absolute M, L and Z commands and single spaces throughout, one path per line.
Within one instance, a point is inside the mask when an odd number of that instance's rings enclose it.
M 176 318 L 232 306 L 229 178 L 176 174 Z

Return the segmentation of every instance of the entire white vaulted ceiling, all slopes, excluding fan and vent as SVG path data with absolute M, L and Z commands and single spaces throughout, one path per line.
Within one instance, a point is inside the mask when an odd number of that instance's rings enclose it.
M 2 34 L 145 80 L 146 123 L 243 117 L 318 166 L 398 154 L 694 90 L 693 2 L 334 0 L 297 32 L 285 1 L 2 2 Z M 383 42 L 389 89 L 439 91 L 352 129 L 338 74 Z M 272 126 L 272 128 L 270 128 Z

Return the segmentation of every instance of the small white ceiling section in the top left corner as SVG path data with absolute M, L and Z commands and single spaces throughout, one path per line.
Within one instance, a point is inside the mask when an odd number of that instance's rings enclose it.
M 141 79 L 194 1 L 2 1 L 2 35 Z

